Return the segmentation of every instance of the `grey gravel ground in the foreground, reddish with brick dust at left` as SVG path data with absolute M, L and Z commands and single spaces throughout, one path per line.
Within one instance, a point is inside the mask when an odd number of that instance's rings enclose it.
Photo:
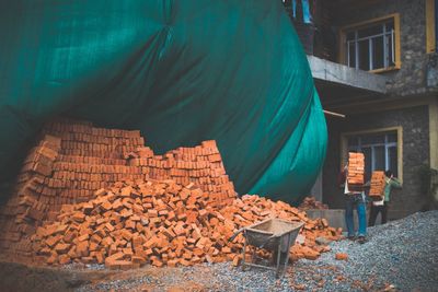
M 273 271 L 242 271 L 223 262 L 147 267 L 77 291 L 438 291 L 438 211 L 416 213 L 368 232 L 362 245 L 335 242 L 332 252 L 318 260 L 293 262 L 281 280 Z M 348 259 L 335 260 L 336 253 L 346 253 Z

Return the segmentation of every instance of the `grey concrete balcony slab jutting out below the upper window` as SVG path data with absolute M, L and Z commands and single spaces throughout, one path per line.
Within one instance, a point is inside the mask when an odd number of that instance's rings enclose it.
M 356 70 L 314 56 L 308 56 L 313 80 L 324 108 L 376 101 L 387 94 L 389 79 Z

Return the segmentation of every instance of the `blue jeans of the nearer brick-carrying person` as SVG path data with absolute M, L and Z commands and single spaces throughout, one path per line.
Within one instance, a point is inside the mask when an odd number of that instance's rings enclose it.
M 357 215 L 359 219 L 358 236 L 367 235 L 367 208 L 365 202 L 365 195 L 345 195 L 345 222 L 347 223 L 348 237 L 355 235 L 355 221 L 353 217 L 353 209 L 356 207 Z

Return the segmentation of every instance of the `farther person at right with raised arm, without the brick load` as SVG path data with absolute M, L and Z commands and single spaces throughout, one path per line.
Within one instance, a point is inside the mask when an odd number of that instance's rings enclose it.
M 394 174 L 388 170 L 384 172 L 384 190 L 381 200 L 373 200 L 371 202 L 371 211 L 369 218 L 369 225 L 373 226 L 376 224 L 376 219 L 379 213 L 381 213 L 382 224 L 388 222 L 388 209 L 390 205 L 390 195 L 392 188 L 401 188 L 402 184 Z

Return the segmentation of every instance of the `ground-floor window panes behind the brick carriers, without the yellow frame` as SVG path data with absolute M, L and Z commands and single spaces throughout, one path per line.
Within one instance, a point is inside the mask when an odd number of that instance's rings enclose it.
M 373 132 L 349 135 L 347 151 L 362 152 L 365 154 L 365 179 L 371 179 L 374 171 L 391 170 L 399 176 L 397 132 Z

